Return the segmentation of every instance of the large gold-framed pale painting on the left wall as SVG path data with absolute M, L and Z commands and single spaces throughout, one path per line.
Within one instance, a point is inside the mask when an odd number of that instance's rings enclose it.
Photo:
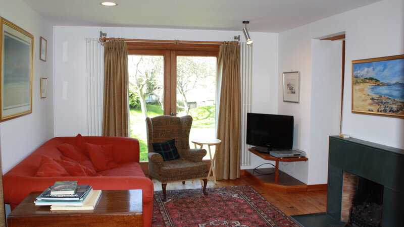
M 0 121 L 32 112 L 32 55 L 34 37 L 0 17 Z

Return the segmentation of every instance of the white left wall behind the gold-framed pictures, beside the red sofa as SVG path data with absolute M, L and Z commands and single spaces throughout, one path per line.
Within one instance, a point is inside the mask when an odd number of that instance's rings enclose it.
M 32 113 L 0 123 L 3 173 L 54 136 L 53 27 L 21 0 L 0 0 L 0 16 L 34 36 Z M 39 37 L 47 40 L 47 61 L 39 60 Z M 40 78 L 47 78 L 47 97 L 40 98 Z

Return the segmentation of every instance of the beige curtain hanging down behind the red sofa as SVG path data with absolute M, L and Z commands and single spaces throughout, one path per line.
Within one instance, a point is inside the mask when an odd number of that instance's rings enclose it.
M 123 41 L 104 43 L 103 136 L 129 136 L 128 49 Z

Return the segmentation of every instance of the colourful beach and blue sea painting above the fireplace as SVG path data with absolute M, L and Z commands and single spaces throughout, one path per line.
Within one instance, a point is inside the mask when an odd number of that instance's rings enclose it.
M 352 112 L 404 118 L 404 54 L 352 61 Z

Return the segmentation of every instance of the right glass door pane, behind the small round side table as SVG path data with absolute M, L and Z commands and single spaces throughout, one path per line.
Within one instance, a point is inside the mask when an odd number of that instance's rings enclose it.
M 189 143 L 194 148 L 192 139 L 216 135 L 216 57 L 177 56 L 176 69 L 176 112 L 192 116 Z

